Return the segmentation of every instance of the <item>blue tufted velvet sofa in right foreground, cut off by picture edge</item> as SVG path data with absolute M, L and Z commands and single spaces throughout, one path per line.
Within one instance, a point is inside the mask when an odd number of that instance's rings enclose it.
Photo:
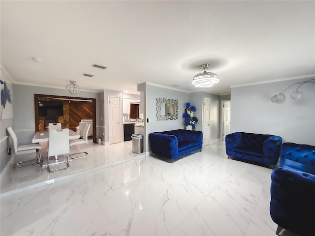
M 315 146 L 284 143 L 280 167 L 271 174 L 270 215 L 276 234 L 315 235 Z

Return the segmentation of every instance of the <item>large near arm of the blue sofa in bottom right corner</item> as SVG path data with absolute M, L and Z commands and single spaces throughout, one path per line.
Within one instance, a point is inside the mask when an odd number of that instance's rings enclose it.
M 315 175 L 278 167 L 271 174 L 272 220 L 300 235 L 314 234 Z

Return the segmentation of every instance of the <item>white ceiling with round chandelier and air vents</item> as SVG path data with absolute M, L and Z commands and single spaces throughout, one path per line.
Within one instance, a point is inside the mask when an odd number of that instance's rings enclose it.
M 19 84 L 64 88 L 75 80 L 81 90 L 137 93 L 150 82 L 196 91 L 192 77 L 209 63 L 220 82 L 203 90 L 226 94 L 230 86 L 315 74 L 315 1 L 1 0 L 0 7 L 0 63 Z

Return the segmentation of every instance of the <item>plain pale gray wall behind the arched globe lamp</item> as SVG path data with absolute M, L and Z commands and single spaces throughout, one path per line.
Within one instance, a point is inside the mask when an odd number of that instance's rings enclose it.
M 279 135 L 283 143 L 314 146 L 315 85 L 306 84 L 299 89 L 303 92 L 301 100 L 290 98 L 294 87 L 283 92 L 284 102 L 270 101 L 279 90 L 307 79 L 231 88 L 231 132 Z

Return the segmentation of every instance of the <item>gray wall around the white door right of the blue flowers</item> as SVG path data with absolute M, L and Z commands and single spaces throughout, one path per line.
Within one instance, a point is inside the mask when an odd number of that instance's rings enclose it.
M 202 130 L 203 98 L 210 98 L 210 142 L 217 141 L 219 139 L 220 96 L 204 91 L 189 93 L 189 101 L 191 105 L 196 107 L 194 113 L 194 116 L 198 118 L 196 130 Z

